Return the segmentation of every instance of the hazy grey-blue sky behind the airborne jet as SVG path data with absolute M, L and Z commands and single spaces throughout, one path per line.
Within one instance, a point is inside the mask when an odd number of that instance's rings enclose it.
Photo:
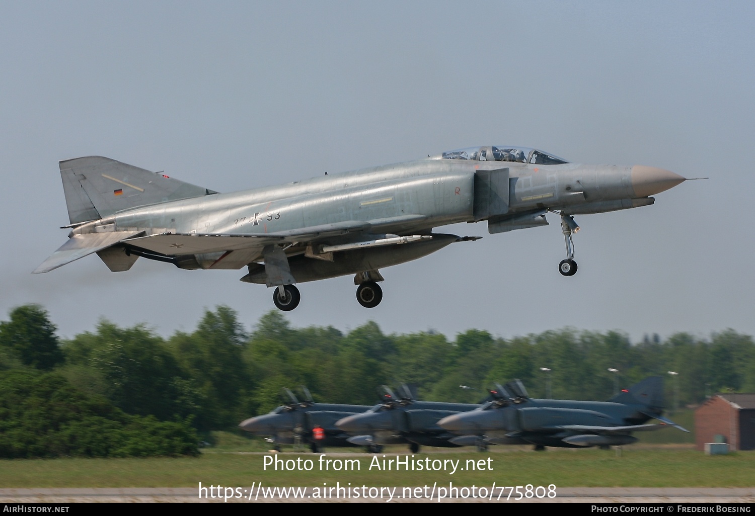
M 100 317 L 168 335 L 273 309 L 244 270 L 92 255 L 31 275 L 66 241 L 59 160 L 231 192 L 509 143 L 710 180 L 576 217 L 571 278 L 556 216 L 451 226 L 485 238 L 383 269 L 375 309 L 352 276 L 300 284 L 291 324 L 755 334 L 753 26 L 753 2 L 2 2 L 0 319 L 40 303 L 63 336 Z

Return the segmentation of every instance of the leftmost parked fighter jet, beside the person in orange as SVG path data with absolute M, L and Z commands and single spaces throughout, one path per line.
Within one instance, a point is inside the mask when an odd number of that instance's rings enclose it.
M 309 444 L 314 453 L 324 446 L 349 447 L 359 446 L 347 441 L 348 435 L 344 434 L 334 423 L 344 416 L 364 412 L 370 407 L 366 405 L 343 405 L 315 403 L 312 401 L 310 392 L 303 388 L 305 401 L 299 401 L 294 394 L 285 389 L 290 400 L 287 404 L 277 407 L 264 416 L 252 417 L 239 424 L 247 432 L 261 435 L 267 441 L 273 443 L 276 450 L 280 450 L 281 444 L 294 444 L 296 438 L 302 444 Z M 313 429 L 319 426 L 325 431 L 325 439 L 316 440 Z

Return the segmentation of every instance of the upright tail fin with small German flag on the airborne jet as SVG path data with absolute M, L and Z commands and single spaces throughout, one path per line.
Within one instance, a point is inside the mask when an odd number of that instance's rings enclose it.
M 102 156 L 60 161 L 60 176 L 71 224 L 131 207 L 217 193 Z

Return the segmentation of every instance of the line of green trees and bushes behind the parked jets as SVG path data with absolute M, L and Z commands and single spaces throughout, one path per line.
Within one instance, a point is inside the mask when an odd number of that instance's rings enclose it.
M 35 305 L 0 322 L 0 457 L 197 453 L 199 435 L 236 428 L 298 385 L 320 402 L 373 404 L 380 385 L 405 382 L 425 400 L 476 402 L 519 378 L 533 397 L 549 380 L 553 398 L 605 400 L 617 379 L 623 387 L 674 371 L 667 406 L 677 395 L 697 404 L 714 392 L 755 392 L 755 344 L 734 330 L 636 343 L 572 328 L 512 339 L 467 330 L 451 340 L 385 334 L 374 322 L 347 333 L 294 328 L 273 311 L 248 332 L 219 306 L 192 333 L 168 338 L 110 321 L 72 339 L 55 331 Z

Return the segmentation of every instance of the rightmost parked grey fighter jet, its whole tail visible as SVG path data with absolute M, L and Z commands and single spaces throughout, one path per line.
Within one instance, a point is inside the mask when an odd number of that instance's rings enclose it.
M 452 443 L 534 444 L 553 447 L 609 447 L 630 444 L 632 432 L 680 425 L 663 414 L 663 378 L 652 376 L 609 401 L 538 400 L 529 398 L 519 380 L 497 385 L 494 400 L 476 410 L 445 417 L 438 425 L 461 437 Z M 657 419 L 659 424 L 646 424 Z

